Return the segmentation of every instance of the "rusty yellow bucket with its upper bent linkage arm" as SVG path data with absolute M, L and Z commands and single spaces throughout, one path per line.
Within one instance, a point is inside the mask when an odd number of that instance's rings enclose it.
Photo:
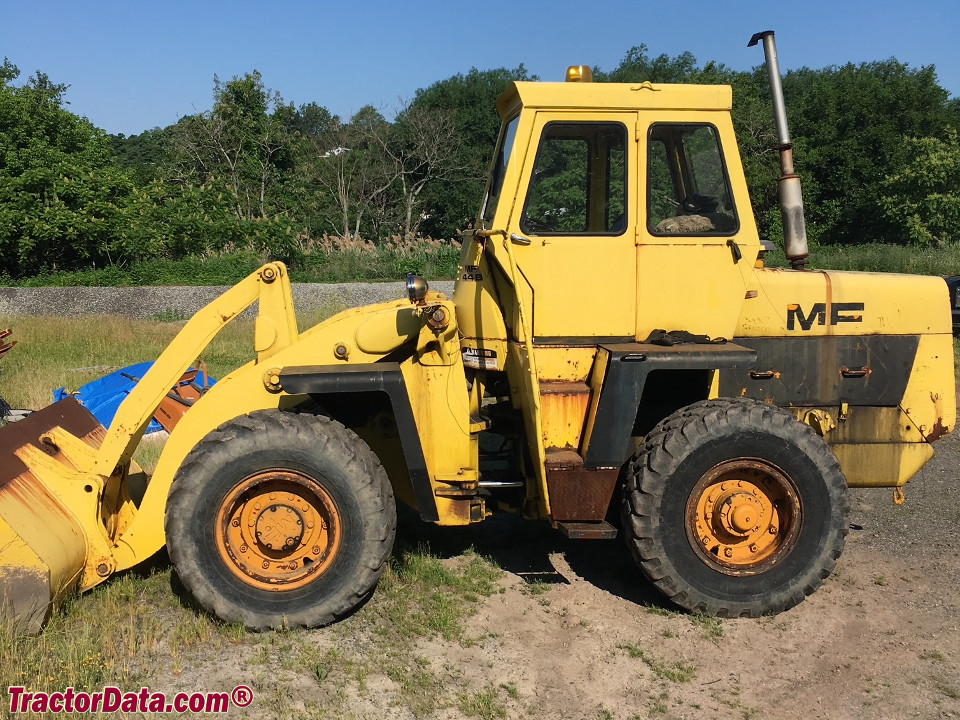
M 298 338 L 281 263 L 264 265 L 194 315 L 121 403 L 109 430 L 73 399 L 2 429 L 0 449 L 9 458 L 0 462 L 0 617 L 39 632 L 74 588 L 89 589 L 145 559 L 123 542 L 143 521 L 127 492 L 139 472 L 133 451 L 178 378 L 257 300 L 254 349 L 258 363 L 266 360 Z M 165 496 L 166 487 L 160 490 Z M 160 508 L 162 515 L 162 507 L 153 502 L 146 512 Z M 157 542 L 162 532 L 154 551 Z

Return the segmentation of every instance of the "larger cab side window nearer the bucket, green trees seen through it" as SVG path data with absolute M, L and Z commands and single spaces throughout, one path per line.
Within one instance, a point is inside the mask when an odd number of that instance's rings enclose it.
M 626 229 L 627 131 L 620 123 L 543 129 L 520 230 L 529 235 L 620 235 Z

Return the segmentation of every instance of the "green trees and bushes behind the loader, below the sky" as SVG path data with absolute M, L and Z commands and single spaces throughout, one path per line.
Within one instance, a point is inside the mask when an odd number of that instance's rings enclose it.
M 472 68 L 417 91 L 392 121 L 369 106 L 342 120 L 315 102 L 284 101 L 254 70 L 215 77 L 208 112 L 108 137 L 65 109 L 65 85 L 41 72 L 16 84 L 19 74 L 9 60 L 0 67 L 0 281 L 95 284 L 138 283 L 140 268 L 157 262 L 205 259 L 209 267 L 237 254 L 282 259 L 309 279 L 451 276 L 453 246 L 421 252 L 394 243 L 379 254 L 367 245 L 467 227 L 500 125 L 494 101 L 510 82 L 536 79 L 523 65 Z M 732 85 L 757 224 L 763 237 L 781 235 L 762 66 L 734 72 L 689 52 L 652 57 L 639 45 L 594 77 Z M 783 85 L 814 247 L 960 240 L 960 100 L 932 67 L 889 59 L 803 68 Z M 574 210 L 557 229 L 583 224 L 582 198 L 564 183 L 577 163 L 571 152 L 565 158 L 538 188 L 544 213 L 551 204 Z M 326 247 L 327 233 L 345 245 Z M 349 247 L 354 241 L 363 249 Z

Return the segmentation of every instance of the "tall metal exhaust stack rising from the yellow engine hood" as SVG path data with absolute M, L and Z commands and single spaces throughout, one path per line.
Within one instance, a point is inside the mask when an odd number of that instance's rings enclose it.
M 793 144 L 787 129 L 787 111 L 783 102 L 783 86 L 780 84 L 780 64 L 777 62 L 777 46 L 773 30 L 759 32 L 750 38 L 747 47 L 763 41 L 763 55 L 770 79 L 770 95 L 773 98 L 773 121 L 777 126 L 777 150 L 780 151 L 780 216 L 783 218 L 783 249 L 794 270 L 803 270 L 809 252 L 807 228 L 803 221 L 803 193 L 800 178 L 793 172 Z

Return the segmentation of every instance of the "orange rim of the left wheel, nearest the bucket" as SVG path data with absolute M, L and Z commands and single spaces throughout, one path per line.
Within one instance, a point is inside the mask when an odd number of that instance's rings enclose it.
M 217 552 L 230 572 L 264 590 L 307 585 L 340 547 L 333 498 L 312 478 L 289 470 L 267 470 L 231 489 L 216 527 Z

